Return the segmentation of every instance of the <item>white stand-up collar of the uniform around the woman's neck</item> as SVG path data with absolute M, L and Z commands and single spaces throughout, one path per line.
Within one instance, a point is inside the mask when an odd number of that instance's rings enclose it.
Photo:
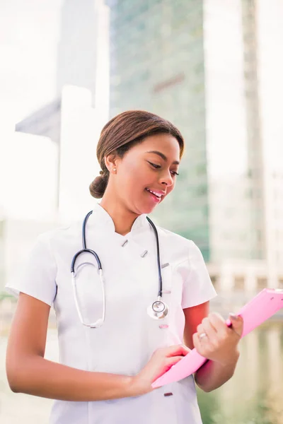
M 107 229 L 110 232 L 115 232 L 115 225 L 111 216 L 100 204 L 95 204 L 91 217 L 94 225 L 98 225 L 103 231 Z M 148 225 L 148 221 L 146 220 L 146 214 L 143 213 L 134 220 L 131 231 L 125 236 L 121 235 L 121 237 L 126 237 L 130 233 L 139 230 L 139 228 L 143 228 L 145 225 Z

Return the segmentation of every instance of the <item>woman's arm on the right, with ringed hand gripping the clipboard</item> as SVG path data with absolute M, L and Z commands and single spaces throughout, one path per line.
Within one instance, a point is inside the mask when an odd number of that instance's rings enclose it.
M 195 373 L 195 382 L 204 391 L 217 389 L 232 376 L 238 362 L 238 341 L 243 319 L 231 317 L 231 328 L 219 314 L 209 314 L 209 302 L 184 310 L 185 344 L 209 361 Z M 207 334 L 200 340 L 200 334 Z

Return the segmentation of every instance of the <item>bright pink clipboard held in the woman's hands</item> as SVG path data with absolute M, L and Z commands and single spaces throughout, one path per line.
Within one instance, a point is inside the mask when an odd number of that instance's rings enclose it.
M 277 288 L 265 288 L 250 302 L 241 308 L 238 315 L 243 317 L 243 336 L 250 333 L 255 327 L 265 322 L 266 319 L 272 317 L 279 309 L 283 307 L 283 290 Z M 226 325 L 230 326 L 229 319 Z M 188 377 L 196 372 L 205 362 L 206 358 L 197 353 L 196 349 L 192 349 L 190 353 L 184 356 L 177 364 L 173 365 L 170 370 L 166 371 L 161 377 L 153 382 L 152 387 L 164 386 L 180 379 Z

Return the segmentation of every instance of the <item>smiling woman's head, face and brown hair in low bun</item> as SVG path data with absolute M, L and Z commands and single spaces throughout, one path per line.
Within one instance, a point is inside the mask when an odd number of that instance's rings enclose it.
M 183 150 L 183 136 L 171 122 L 141 110 L 123 112 L 101 132 L 97 151 L 102 171 L 91 183 L 91 195 L 103 197 L 100 205 L 107 209 L 108 199 L 113 204 L 118 194 L 133 218 L 151 213 L 175 187 Z

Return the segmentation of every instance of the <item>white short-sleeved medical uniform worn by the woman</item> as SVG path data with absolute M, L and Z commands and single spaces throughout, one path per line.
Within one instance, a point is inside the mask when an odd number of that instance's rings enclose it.
M 158 228 L 163 300 L 169 307 L 164 319 L 150 318 L 146 309 L 157 298 L 158 268 L 154 231 L 139 216 L 129 234 L 115 232 L 112 218 L 98 204 L 86 225 L 86 245 L 103 266 L 106 311 L 103 326 L 83 326 L 76 311 L 71 285 L 71 260 L 82 249 L 81 224 L 40 235 L 21 281 L 8 285 L 52 305 L 57 316 L 59 361 L 70 367 L 120 375 L 136 375 L 160 347 L 183 343 L 183 308 L 199 305 L 216 295 L 200 249 L 190 240 Z M 127 242 L 126 242 L 127 240 Z M 147 253 L 145 253 L 147 251 Z M 96 261 L 90 254 L 78 264 Z M 77 268 L 77 266 L 76 266 Z M 91 265 L 78 271 L 83 318 L 102 317 L 98 273 Z M 94 271 L 94 272 L 93 272 Z M 173 396 L 164 396 L 171 392 Z M 92 402 L 54 401 L 52 424 L 201 424 L 192 376 L 149 394 Z

